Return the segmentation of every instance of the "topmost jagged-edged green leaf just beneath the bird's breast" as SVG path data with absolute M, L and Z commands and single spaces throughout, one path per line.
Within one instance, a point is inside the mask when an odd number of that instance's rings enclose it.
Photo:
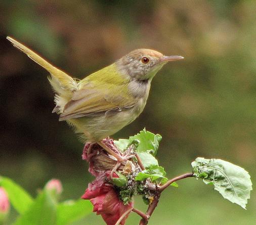
M 118 149 L 124 151 L 127 147 L 129 147 L 134 141 L 138 140 L 137 152 L 149 152 L 153 156 L 156 155 L 157 149 L 159 147 L 159 142 L 162 137 L 160 134 L 154 134 L 149 131 L 146 131 L 144 128 L 140 133 L 136 134 L 127 139 L 119 139 L 118 141 L 114 141 Z

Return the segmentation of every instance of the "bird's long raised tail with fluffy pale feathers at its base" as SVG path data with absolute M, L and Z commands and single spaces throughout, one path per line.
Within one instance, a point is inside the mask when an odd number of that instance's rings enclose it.
M 55 96 L 56 107 L 53 112 L 61 113 L 65 104 L 70 100 L 72 92 L 77 88 L 77 82 L 71 76 L 24 46 L 24 44 L 12 37 L 7 37 L 7 39 L 12 42 L 14 47 L 25 53 L 30 59 L 51 73 L 51 77 L 48 79 L 57 94 Z

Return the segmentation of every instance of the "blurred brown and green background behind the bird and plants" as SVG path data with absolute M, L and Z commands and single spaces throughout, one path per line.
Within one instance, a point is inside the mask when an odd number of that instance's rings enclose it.
M 79 198 L 93 179 L 83 145 L 51 113 L 48 73 L 14 49 L 10 35 L 78 78 L 137 48 L 184 56 L 155 76 L 144 112 L 114 138 L 146 127 L 163 137 L 158 159 L 168 177 L 201 156 L 244 167 L 255 184 L 256 1 L 2 0 L 0 11 L 1 175 L 33 196 L 59 178 L 63 200 Z M 127 224 L 138 221 L 132 214 Z M 162 195 L 149 224 L 159 222 L 254 225 L 256 194 L 245 211 L 188 178 Z M 104 222 L 92 213 L 75 224 Z

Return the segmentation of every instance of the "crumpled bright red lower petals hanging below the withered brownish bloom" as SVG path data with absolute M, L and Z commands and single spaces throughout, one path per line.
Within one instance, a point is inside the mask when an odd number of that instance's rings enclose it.
M 82 198 L 92 202 L 94 206 L 93 211 L 97 212 L 97 215 L 101 215 L 107 225 L 115 225 L 125 212 L 133 208 L 133 202 L 124 205 L 118 198 L 118 194 L 113 186 L 107 182 L 106 173 L 102 173 L 94 182 L 89 184 Z M 121 225 L 124 225 L 129 213 L 120 221 Z

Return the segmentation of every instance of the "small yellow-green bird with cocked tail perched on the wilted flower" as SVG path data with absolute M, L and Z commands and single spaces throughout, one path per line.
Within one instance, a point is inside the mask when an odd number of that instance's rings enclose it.
M 84 142 L 97 142 L 134 121 L 143 111 L 154 75 L 164 64 L 184 59 L 137 49 L 113 64 L 78 80 L 53 66 L 12 37 L 14 47 L 44 67 L 55 94 L 53 112 L 75 128 Z M 106 146 L 104 146 L 106 149 Z M 109 150 L 107 150 L 109 151 Z

